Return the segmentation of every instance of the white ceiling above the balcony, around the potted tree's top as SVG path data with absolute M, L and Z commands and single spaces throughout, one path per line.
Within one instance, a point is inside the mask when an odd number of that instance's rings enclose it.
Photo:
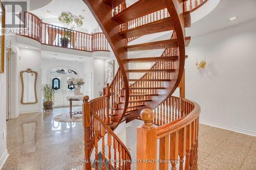
M 86 11 L 83 11 L 83 9 Z M 47 10 L 50 12 L 47 12 Z M 31 12 L 44 22 L 57 23 L 59 22 L 58 16 L 63 11 L 84 17 L 82 27 L 79 29 L 75 28 L 75 30 L 92 33 L 93 29 L 98 27 L 93 14 L 82 0 L 52 0 L 48 5 Z

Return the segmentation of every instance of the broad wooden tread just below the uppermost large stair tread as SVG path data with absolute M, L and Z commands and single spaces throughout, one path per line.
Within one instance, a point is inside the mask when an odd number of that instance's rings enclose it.
M 159 33 L 174 30 L 174 25 L 170 17 L 163 18 L 145 25 L 125 30 L 119 33 L 123 38 L 143 36 L 147 34 Z

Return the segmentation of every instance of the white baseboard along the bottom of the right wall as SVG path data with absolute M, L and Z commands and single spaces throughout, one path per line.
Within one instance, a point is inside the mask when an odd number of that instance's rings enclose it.
M 212 122 L 208 122 L 205 120 L 200 120 L 200 124 L 209 125 L 209 126 L 213 126 L 213 127 L 217 127 L 217 128 L 221 128 L 221 129 L 226 129 L 226 130 L 230 130 L 230 131 L 234 131 L 234 132 L 238 132 L 238 133 L 243 133 L 246 135 L 256 136 L 256 132 L 253 132 L 253 131 L 235 128 L 235 127 L 226 126 L 226 125 L 221 125 L 221 124 L 217 124 L 217 123 L 212 123 Z

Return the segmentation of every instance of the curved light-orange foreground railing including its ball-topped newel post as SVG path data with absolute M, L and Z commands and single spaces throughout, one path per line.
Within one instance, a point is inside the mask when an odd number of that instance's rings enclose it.
M 179 104 L 180 100 L 182 101 L 181 105 Z M 153 112 L 151 109 L 141 111 L 140 117 L 143 124 L 137 129 L 137 159 L 153 161 L 151 163 L 139 162 L 137 169 L 155 170 L 157 164 L 160 170 L 198 169 L 200 106 L 186 99 L 170 97 L 160 107 L 163 110 L 158 112 L 158 116 L 160 113 L 162 121 L 156 120 L 156 111 Z M 166 122 L 164 122 L 164 118 Z M 167 119 L 173 120 L 173 122 L 168 123 Z M 153 126 L 153 123 L 156 122 L 161 126 Z M 157 144 L 158 140 L 159 145 Z M 159 156 L 157 157 L 158 152 Z

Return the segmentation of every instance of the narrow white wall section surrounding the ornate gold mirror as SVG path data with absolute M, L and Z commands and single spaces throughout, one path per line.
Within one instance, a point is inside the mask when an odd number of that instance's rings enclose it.
M 19 72 L 31 68 L 34 71 L 37 71 L 37 82 L 36 82 L 36 93 L 37 93 L 37 103 L 30 105 L 22 105 L 19 102 L 19 113 L 28 113 L 40 111 L 41 109 L 41 52 L 39 50 L 33 50 L 30 48 L 19 48 L 19 60 L 17 63 L 18 66 L 18 92 L 19 92 L 19 101 L 22 95 L 22 83 L 20 81 Z

